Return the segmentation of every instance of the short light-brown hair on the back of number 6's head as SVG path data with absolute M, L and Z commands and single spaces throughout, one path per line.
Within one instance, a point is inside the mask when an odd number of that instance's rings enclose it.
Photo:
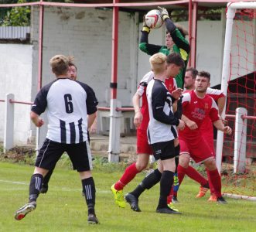
M 64 75 L 69 68 L 69 59 L 63 55 L 56 55 L 49 60 L 49 65 L 52 67 L 54 74 Z

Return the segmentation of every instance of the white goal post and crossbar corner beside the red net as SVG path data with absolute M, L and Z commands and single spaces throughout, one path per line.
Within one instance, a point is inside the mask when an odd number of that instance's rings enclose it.
M 227 4 L 227 22 L 226 22 L 226 32 L 225 32 L 225 43 L 224 43 L 224 60 L 222 66 L 222 80 L 221 80 L 221 90 L 227 96 L 228 79 L 230 77 L 230 48 L 231 48 L 231 38 L 232 38 L 232 28 L 234 15 L 237 9 L 256 9 L 256 2 L 229 2 Z M 226 107 L 222 112 L 221 117 L 225 118 Z M 222 131 L 217 132 L 217 148 L 216 148 L 216 162 L 217 169 L 221 170 L 222 152 L 224 133 Z

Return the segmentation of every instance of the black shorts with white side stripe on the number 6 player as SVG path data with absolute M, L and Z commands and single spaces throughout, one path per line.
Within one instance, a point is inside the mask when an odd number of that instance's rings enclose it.
M 42 148 L 39 150 L 35 165 L 42 169 L 54 169 L 56 162 L 58 162 L 64 152 L 67 152 L 67 155 L 69 155 L 73 169 L 77 169 L 77 172 L 92 169 L 90 147 L 87 141 L 76 144 L 63 144 L 53 142 L 48 138 L 45 139 Z

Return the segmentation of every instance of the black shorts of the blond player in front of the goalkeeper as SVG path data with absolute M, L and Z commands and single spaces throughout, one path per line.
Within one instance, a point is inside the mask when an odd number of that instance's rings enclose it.
M 166 142 L 156 142 L 156 143 L 153 143 L 151 146 L 152 146 L 155 160 L 172 159 L 176 156 L 176 152 L 174 148 L 174 140 L 170 140 Z

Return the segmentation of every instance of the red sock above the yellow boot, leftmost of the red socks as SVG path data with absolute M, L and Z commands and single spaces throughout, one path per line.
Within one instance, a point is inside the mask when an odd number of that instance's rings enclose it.
M 131 181 L 131 179 L 134 179 L 135 176 L 138 173 L 138 170 L 136 169 L 136 163 L 129 165 L 123 174 L 121 178 L 118 180 L 117 183 L 114 184 L 114 189 L 121 190 L 124 189 L 124 187 Z

